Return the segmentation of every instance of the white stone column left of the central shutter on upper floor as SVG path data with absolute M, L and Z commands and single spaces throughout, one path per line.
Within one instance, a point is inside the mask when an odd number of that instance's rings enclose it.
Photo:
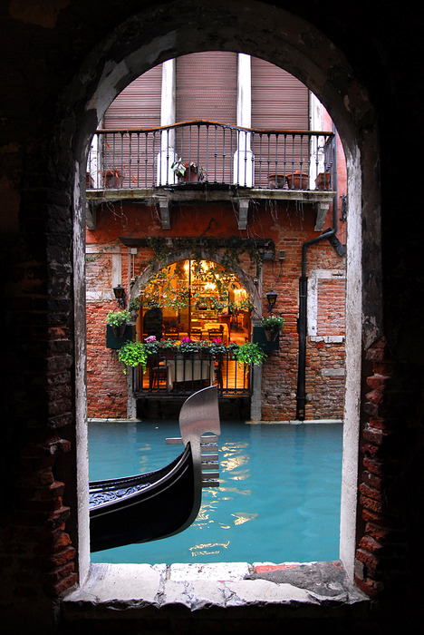
M 162 64 L 162 94 L 160 103 L 160 125 L 169 126 L 175 123 L 175 83 L 176 61 L 168 60 Z M 171 170 L 175 160 L 175 132 L 163 131 L 160 135 L 160 152 L 158 154 L 157 184 L 167 185 L 177 182 L 176 174 Z

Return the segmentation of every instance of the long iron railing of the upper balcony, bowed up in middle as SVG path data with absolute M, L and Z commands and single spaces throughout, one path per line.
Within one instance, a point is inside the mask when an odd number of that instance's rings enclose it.
M 333 137 L 332 132 L 265 131 L 207 121 L 98 130 L 87 162 L 87 187 L 150 189 L 189 181 L 332 190 Z

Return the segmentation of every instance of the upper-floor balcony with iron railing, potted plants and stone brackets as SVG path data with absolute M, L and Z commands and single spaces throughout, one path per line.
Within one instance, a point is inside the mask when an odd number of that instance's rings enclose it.
M 249 200 L 301 200 L 315 207 L 315 230 L 335 195 L 332 132 L 264 131 L 218 122 L 149 130 L 98 130 L 87 162 L 87 225 L 109 200 L 157 204 L 170 228 L 174 200 L 230 200 L 247 229 Z

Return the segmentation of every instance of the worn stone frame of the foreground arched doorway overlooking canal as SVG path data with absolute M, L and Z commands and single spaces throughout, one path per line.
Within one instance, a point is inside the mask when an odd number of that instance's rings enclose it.
M 203 5 L 203 3 L 200 3 Z M 82 128 L 86 134 L 80 134 L 77 146 L 87 147 L 87 139 L 91 137 L 95 122 L 98 121 L 102 112 L 114 96 L 119 92 L 120 87 L 129 83 L 131 79 L 138 74 L 147 70 L 150 66 L 157 64 L 160 60 L 165 60 L 169 56 L 169 48 L 172 54 L 183 54 L 197 50 L 207 50 L 216 45 L 217 33 L 226 31 L 225 24 L 236 24 L 233 31 L 230 28 L 228 39 L 222 44 L 223 48 L 231 49 L 232 46 L 238 48 L 240 45 L 245 47 L 247 53 L 263 56 L 274 64 L 278 64 L 294 72 L 299 76 L 306 85 L 313 87 L 314 92 L 322 99 L 332 114 L 333 120 L 336 122 L 337 128 L 341 133 L 349 171 L 349 190 L 348 198 L 350 201 L 350 233 L 348 242 L 348 305 L 350 308 L 350 323 L 347 325 L 348 330 L 348 375 L 347 375 L 347 394 L 346 394 L 346 417 L 345 417 L 345 448 L 346 458 L 345 465 L 347 468 L 344 473 L 343 480 L 343 501 L 344 510 L 342 511 L 342 560 L 352 575 L 353 553 L 354 553 L 354 527 L 355 527 L 355 502 L 356 502 L 356 464 L 358 452 L 358 430 L 359 430 L 359 397 L 360 397 L 360 378 L 361 378 L 361 313 L 362 310 L 367 317 L 369 325 L 365 330 L 363 341 L 364 345 L 370 344 L 371 340 L 378 335 L 381 328 L 380 305 L 371 308 L 369 298 L 375 298 L 375 289 L 377 288 L 377 277 L 370 278 L 364 284 L 371 294 L 366 292 L 362 294 L 361 270 L 366 259 L 362 258 L 362 253 L 368 254 L 367 258 L 377 260 L 375 266 L 371 268 L 378 274 L 380 264 L 378 257 L 375 256 L 376 250 L 370 249 L 371 241 L 375 244 L 380 235 L 379 231 L 379 190 L 378 184 L 374 181 L 373 174 L 367 174 L 364 166 L 374 163 L 377 159 L 377 145 L 375 143 L 375 130 L 373 128 L 373 118 L 369 118 L 371 106 L 363 98 L 363 92 L 357 85 L 353 73 L 351 73 L 342 54 L 332 47 L 331 43 L 323 38 L 322 34 L 318 34 L 310 24 L 305 24 L 289 15 L 286 12 L 275 7 L 268 7 L 264 13 L 264 5 L 261 3 L 246 3 L 239 14 L 238 3 L 218 3 L 213 7 L 205 4 L 203 6 L 204 13 L 198 16 L 198 20 L 194 25 L 189 14 L 189 6 L 178 4 L 170 5 L 169 19 L 175 17 L 172 22 L 172 28 L 169 23 L 161 20 L 162 15 L 159 10 L 153 9 L 142 16 L 139 16 L 138 24 L 140 24 L 140 32 L 138 33 L 137 43 L 140 43 L 143 35 L 145 39 L 143 44 L 137 44 L 134 38 L 123 38 L 120 30 L 120 52 L 118 59 L 114 55 L 114 67 L 112 72 L 106 70 L 106 60 L 111 55 L 111 47 L 116 44 L 118 34 L 111 37 L 110 45 L 104 47 L 101 51 L 96 51 L 92 55 L 92 59 L 87 60 L 87 68 L 92 73 L 93 68 L 101 69 L 99 75 L 92 82 L 94 86 L 93 92 L 89 95 L 85 89 L 82 89 L 84 107 L 86 112 L 81 116 Z M 158 13 L 159 11 L 159 13 Z M 172 15 L 172 11 L 174 14 Z M 246 12 L 246 13 L 245 13 Z M 259 19 L 260 16 L 260 19 Z M 258 26 L 259 22 L 259 26 Z M 125 24 L 122 29 L 133 27 L 131 24 Z M 284 24 L 284 33 L 279 33 L 278 37 L 269 38 L 269 33 L 275 33 L 275 24 Z M 154 28 L 151 29 L 151 26 Z M 151 29 L 151 32 L 150 32 Z M 298 33 L 302 31 L 302 46 L 298 45 Z M 263 32 L 268 34 L 263 37 Z M 131 31 L 132 32 L 132 31 Z M 178 33 L 178 43 L 171 38 L 172 44 L 169 43 L 170 33 Z M 133 33 L 133 32 L 132 32 Z M 152 34 L 157 35 L 157 39 L 153 45 L 155 54 L 152 60 L 151 44 Z M 140 38 L 140 39 L 139 39 Z M 304 44 L 309 43 L 309 44 Z M 311 44 L 313 43 L 313 44 Z M 284 44 L 284 45 L 282 45 Z M 164 53 L 166 51 L 166 53 Z M 94 60 L 96 64 L 94 64 Z M 99 62 L 101 60 L 101 62 Z M 339 75 L 334 74 L 332 81 L 328 81 L 329 68 L 342 68 Z M 345 83 L 352 88 L 356 84 L 357 95 L 355 91 L 350 91 L 349 107 L 346 102 Z M 365 121 L 371 122 L 365 124 Z M 364 132 L 365 131 L 365 132 Z M 85 143 L 84 143 L 85 142 Z M 85 175 L 85 154 L 84 150 L 80 151 L 75 157 L 80 163 L 81 174 Z M 75 180 L 76 190 L 78 190 L 78 181 Z M 367 201 L 365 209 L 361 210 L 361 198 Z M 75 200 L 76 209 L 76 239 L 75 239 L 75 259 L 82 260 L 82 244 L 81 239 L 81 200 L 78 196 Z M 362 236 L 361 232 L 361 213 L 363 213 L 369 224 L 367 231 Z M 377 237 L 377 238 L 376 238 Z M 362 242 L 363 239 L 363 242 Z M 362 246 L 362 249 L 361 249 Z M 349 273 L 351 272 L 351 278 Z M 350 283 L 349 280 L 352 280 Z M 81 279 L 77 278 L 75 288 L 77 290 L 81 285 Z M 362 302 L 362 298 L 363 302 Z M 78 298 L 77 298 L 78 299 Z M 83 306 L 83 301 L 82 301 Z M 82 324 L 82 315 L 77 316 L 77 327 Z M 83 333 L 83 327 L 82 331 Z M 83 347 L 78 350 L 77 366 L 80 366 L 83 357 Z M 80 364 L 79 364 L 80 362 Z M 77 378 L 77 386 L 81 388 L 83 395 L 83 377 Z M 83 409 L 79 409 L 80 427 L 83 426 Z M 81 481 L 86 477 L 86 470 L 81 470 Z M 86 496 L 86 485 L 82 486 L 82 504 L 80 515 L 82 524 L 80 527 L 80 535 L 82 545 L 87 539 L 86 523 L 83 514 L 87 513 L 87 506 L 83 498 Z M 88 514 L 86 514 L 88 517 Z M 83 525 L 85 523 L 85 531 Z M 85 533 L 85 538 L 84 538 Z M 87 550 L 82 546 L 80 552 L 82 557 L 81 572 L 88 571 Z

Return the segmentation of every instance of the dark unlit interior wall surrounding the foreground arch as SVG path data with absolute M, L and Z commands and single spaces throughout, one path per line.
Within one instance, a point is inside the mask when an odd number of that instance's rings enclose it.
M 410 5 L 402 11 L 384 5 L 381 11 L 380 3 L 374 6 L 362 0 L 352 6 L 327 2 L 324 8 L 322 3 L 306 0 L 296 6 L 295 13 L 321 30 L 346 56 L 346 65 L 337 66 L 329 48 L 325 73 L 323 43 L 309 41 L 311 33 L 302 24 L 290 22 L 297 48 L 278 46 L 287 24 L 275 21 L 270 29 L 269 15 L 274 15 L 273 6 L 289 4 L 263 3 L 263 13 L 255 14 L 255 19 L 246 17 L 253 4 L 245 2 L 228 6 L 231 15 L 226 15 L 224 3 L 205 7 L 200 2 L 51 0 L 34 4 L 11 0 L 0 7 L 0 227 L 6 361 L 0 543 L 5 575 L 0 606 L 5 619 L 10 614 L 38 615 L 37 624 L 47 628 L 55 614 L 51 598 L 77 579 L 72 552 L 78 548 L 75 501 L 72 487 L 66 489 L 74 476 L 72 166 L 76 158 L 82 158 L 84 141 L 96 125 L 97 115 L 86 104 L 93 99 L 104 109 L 137 69 L 139 73 L 145 70 L 140 57 L 143 64 L 153 66 L 174 54 L 210 48 L 214 29 L 218 48 L 265 57 L 275 50 L 275 58 L 281 63 L 285 59 L 287 70 L 312 90 L 316 83 L 330 112 L 332 103 L 345 103 L 344 118 L 340 106 L 332 114 L 348 155 L 353 132 L 361 143 L 367 142 L 370 130 L 378 132 L 381 161 L 375 159 L 376 152 L 374 161 L 364 162 L 362 175 L 365 181 L 381 177 L 383 268 L 382 279 L 377 279 L 380 250 L 368 249 L 364 306 L 378 328 L 370 319 L 364 339 L 370 344 L 370 334 L 375 340 L 384 336 L 378 341 L 394 369 L 391 387 L 384 394 L 384 412 L 374 408 L 371 415 L 374 424 L 390 421 L 382 440 L 374 437 L 373 447 L 384 443 L 391 471 L 384 481 L 381 504 L 388 503 L 386 516 L 396 520 L 402 537 L 385 545 L 383 562 L 379 562 L 382 586 L 377 591 L 382 589 L 383 599 L 388 594 L 396 597 L 397 606 L 408 592 L 409 611 L 418 608 L 412 601 L 421 586 L 417 572 L 423 561 L 419 496 L 424 464 L 422 221 L 410 213 L 417 203 L 411 206 L 408 199 L 422 136 L 422 83 L 415 75 L 422 18 Z M 188 5 L 193 8 L 189 20 Z M 235 7 L 243 19 L 236 19 Z M 132 19 L 143 11 L 153 12 L 149 20 Z M 252 44 L 246 37 L 245 24 L 250 24 L 252 34 L 260 34 L 256 40 L 262 44 Z M 117 27 L 120 34 L 112 36 Z M 159 44 L 145 44 L 147 31 L 149 43 L 158 37 Z M 305 55 L 306 49 L 314 47 L 320 55 L 316 68 L 312 57 Z M 142 56 L 134 53 L 138 50 Z M 113 88 L 116 65 L 123 64 L 129 54 L 128 70 L 118 73 Z M 103 93 L 97 91 L 99 85 L 105 87 Z M 364 106 L 367 99 L 358 93 L 359 85 L 364 95 L 368 93 L 372 108 Z M 374 230 L 371 211 L 380 206 L 380 200 L 362 200 L 362 204 L 363 231 L 370 236 Z M 366 431 L 370 414 L 367 408 L 363 412 Z M 20 611 L 23 605 L 24 612 Z

